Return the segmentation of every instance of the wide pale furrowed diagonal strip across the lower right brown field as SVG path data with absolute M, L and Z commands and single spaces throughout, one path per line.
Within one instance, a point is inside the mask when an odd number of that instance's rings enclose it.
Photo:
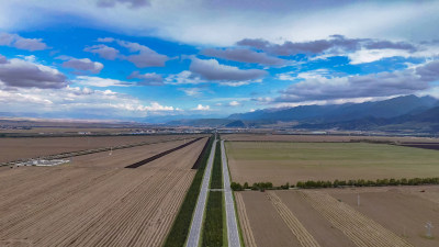
M 303 191 L 309 204 L 359 247 L 412 246 L 379 223 L 324 192 Z

